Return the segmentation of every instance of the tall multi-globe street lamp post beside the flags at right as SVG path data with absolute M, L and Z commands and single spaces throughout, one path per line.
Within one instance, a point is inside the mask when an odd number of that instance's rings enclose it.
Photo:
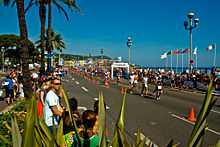
M 189 69 L 190 73 L 193 70 L 193 60 L 192 60 L 192 30 L 196 28 L 199 24 L 199 18 L 194 19 L 195 14 L 193 12 L 189 12 L 187 14 L 188 21 L 184 21 L 185 30 L 189 30 Z

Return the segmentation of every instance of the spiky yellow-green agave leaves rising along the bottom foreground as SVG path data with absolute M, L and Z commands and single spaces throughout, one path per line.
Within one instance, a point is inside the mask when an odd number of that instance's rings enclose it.
M 198 119 L 195 123 L 194 129 L 189 138 L 188 147 L 199 147 L 202 146 L 204 133 L 207 127 L 206 118 L 212 109 L 213 105 L 216 102 L 216 99 L 212 96 L 212 84 L 213 81 L 210 82 L 208 91 L 206 93 L 205 99 L 203 101 L 203 105 L 199 112 Z M 64 91 L 63 87 L 61 91 L 64 95 L 64 101 L 67 106 L 67 110 L 69 111 L 70 118 L 72 120 L 72 125 L 74 127 L 76 137 L 78 139 L 78 146 L 82 146 L 82 141 L 78 135 L 78 130 L 76 127 L 75 120 L 72 117 L 70 112 L 70 106 L 68 103 L 68 96 Z M 3 141 L 3 145 L 5 146 L 13 146 L 13 147 L 58 147 L 63 145 L 63 120 L 61 119 L 58 132 L 56 134 L 51 134 L 46 124 L 42 119 L 39 119 L 37 116 L 37 107 L 36 107 L 36 98 L 33 95 L 32 99 L 27 100 L 28 108 L 27 114 L 25 118 L 24 125 L 24 133 L 21 134 L 19 130 L 16 115 L 13 113 L 10 114 L 11 118 L 11 126 L 8 126 L 8 129 L 12 133 L 12 142 L 10 142 L 5 136 L 0 135 L 0 140 Z M 144 147 L 146 138 L 141 137 L 140 129 L 137 131 L 136 141 L 134 145 L 130 145 L 126 139 L 125 132 L 125 104 L 126 103 L 126 90 L 122 99 L 122 105 L 118 120 L 115 125 L 114 136 L 111 142 L 112 147 Z M 20 110 L 20 109 L 19 109 Z M 109 146 L 106 141 L 106 114 L 105 114 L 105 105 L 104 105 L 104 97 L 102 93 L 99 93 L 99 136 L 100 136 L 100 147 Z M 149 145 L 151 146 L 151 145 Z M 175 147 L 177 144 L 174 144 L 174 141 L 171 140 L 168 144 L 169 147 Z M 220 147 L 220 140 L 217 142 L 216 147 Z

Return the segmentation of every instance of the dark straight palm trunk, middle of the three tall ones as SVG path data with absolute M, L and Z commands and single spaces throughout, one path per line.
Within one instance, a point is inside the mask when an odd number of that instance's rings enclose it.
M 45 72 L 45 64 L 44 64 L 44 51 L 46 49 L 45 45 L 45 26 L 46 26 L 46 8 L 43 3 L 43 0 L 40 1 L 40 7 L 39 7 L 39 16 L 40 16 L 40 23 L 41 23 L 41 34 L 40 34 L 40 40 L 41 40 L 41 73 Z

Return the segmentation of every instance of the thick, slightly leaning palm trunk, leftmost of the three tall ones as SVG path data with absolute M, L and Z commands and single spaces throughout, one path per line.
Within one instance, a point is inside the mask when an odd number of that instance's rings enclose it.
M 32 89 L 31 89 L 31 74 L 29 71 L 29 52 L 28 52 L 28 32 L 25 21 L 25 13 L 24 13 L 24 0 L 16 0 L 17 5 L 17 14 L 19 21 L 19 29 L 20 29 L 20 48 L 19 48 L 19 56 L 21 59 L 23 80 L 24 80 L 24 94 L 26 98 L 31 98 Z

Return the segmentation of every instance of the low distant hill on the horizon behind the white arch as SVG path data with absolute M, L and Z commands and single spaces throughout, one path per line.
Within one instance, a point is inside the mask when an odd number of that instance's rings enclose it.
M 93 60 L 98 60 L 98 59 L 102 59 L 102 56 L 82 56 L 82 55 L 72 55 L 72 54 L 61 54 L 61 58 L 63 58 L 64 60 L 87 60 L 89 58 L 92 58 Z M 111 60 L 112 58 L 108 56 L 103 56 L 103 59 Z

